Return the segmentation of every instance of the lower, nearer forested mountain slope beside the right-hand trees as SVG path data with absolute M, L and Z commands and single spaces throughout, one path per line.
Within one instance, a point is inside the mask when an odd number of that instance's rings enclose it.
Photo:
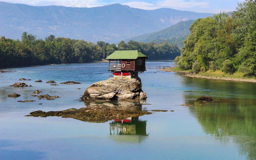
M 127 42 L 129 40 L 134 40 L 145 43 L 151 41 L 154 41 L 156 43 L 162 43 L 164 41 L 167 41 L 169 43 L 176 44 L 179 47 L 182 47 L 182 41 L 185 40 L 186 37 L 189 35 L 189 27 L 194 21 L 195 20 L 182 21 L 158 32 L 143 34 L 140 36 L 126 39 L 124 41 Z

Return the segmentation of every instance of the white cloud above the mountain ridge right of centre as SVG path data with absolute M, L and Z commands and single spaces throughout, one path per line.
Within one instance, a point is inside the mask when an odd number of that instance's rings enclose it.
M 123 3 L 123 5 L 128 5 L 134 8 L 141 9 L 157 9 L 157 8 L 174 8 L 174 9 L 184 9 L 192 7 L 208 8 L 208 2 L 199 2 L 195 0 L 185 1 L 185 0 L 159 0 L 156 4 L 147 2 L 128 2 Z

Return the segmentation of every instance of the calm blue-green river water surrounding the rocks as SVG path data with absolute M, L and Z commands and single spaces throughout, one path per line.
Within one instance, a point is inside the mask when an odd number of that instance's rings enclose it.
M 123 124 L 24 116 L 36 110 L 85 107 L 76 100 L 91 83 L 109 78 L 108 63 L 23 67 L 0 73 L 0 159 L 256 159 L 256 84 L 156 69 L 173 65 L 171 60 L 146 62 L 147 71 L 139 77 L 148 98 L 136 107 L 174 112 L 134 117 L 132 123 Z M 32 87 L 10 87 L 20 78 L 31 79 L 23 82 Z M 43 82 L 34 82 L 39 79 Z M 82 84 L 50 86 L 45 83 L 49 80 Z M 38 100 L 31 96 L 37 89 L 60 98 Z M 21 96 L 6 97 L 14 92 Z M 230 102 L 193 102 L 202 95 Z

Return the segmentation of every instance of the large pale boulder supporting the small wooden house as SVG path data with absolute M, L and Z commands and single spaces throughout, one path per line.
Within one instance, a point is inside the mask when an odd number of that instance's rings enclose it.
M 121 79 L 120 77 L 112 77 L 93 83 L 86 89 L 81 99 L 82 101 L 145 99 L 147 96 L 141 87 L 140 78 Z

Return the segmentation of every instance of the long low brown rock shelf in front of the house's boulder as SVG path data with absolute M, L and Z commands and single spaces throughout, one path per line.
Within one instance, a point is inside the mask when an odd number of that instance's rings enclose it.
M 31 112 L 30 115 L 34 117 L 47 117 L 47 116 L 62 116 L 62 118 L 74 118 L 81 121 L 90 122 L 106 122 L 112 119 L 124 119 L 131 116 L 141 116 L 144 114 L 151 114 L 146 111 L 120 111 L 111 110 L 106 107 L 94 106 L 94 107 L 83 107 L 80 109 L 71 108 L 64 111 L 35 111 Z

